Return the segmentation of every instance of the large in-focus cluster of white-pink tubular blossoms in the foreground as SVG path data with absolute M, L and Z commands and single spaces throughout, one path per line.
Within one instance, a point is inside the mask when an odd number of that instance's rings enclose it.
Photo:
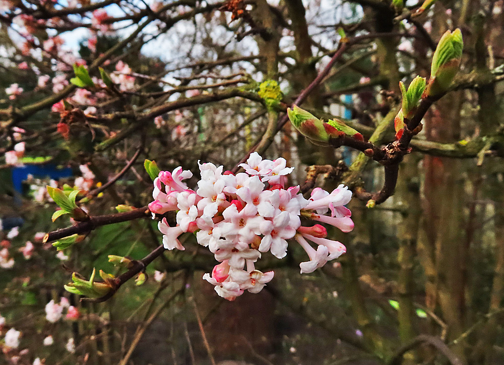
M 331 194 L 317 188 L 306 200 L 299 186 L 285 188 L 294 168 L 286 167 L 284 158 L 263 160 L 256 152 L 240 165 L 245 172 L 236 175 L 212 163 L 199 166 L 196 191 L 182 182 L 193 176 L 191 171 L 177 167 L 172 173 L 159 172 L 149 209 L 155 214 L 177 211 L 176 226 L 170 227 L 166 218 L 158 224 L 166 249 L 184 250 L 178 236 L 196 232 L 198 243 L 215 255 L 220 264 L 203 278 L 220 296 L 233 300 L 244 290 L 261 291 L 273 272 L 256 270 L 255 262 L 268 251 L 285 257 L 288 239 L 298 241 L 308 254 L 309 261 L 300 264 L 301 273 L 313 272 L 345 253 L 340 242 L 326 238 L 324 226 L 301 226 L 300 217 L 352 230 L 350 210 L 344 207 L 352 197 L 347 187 L 340 185 Z

